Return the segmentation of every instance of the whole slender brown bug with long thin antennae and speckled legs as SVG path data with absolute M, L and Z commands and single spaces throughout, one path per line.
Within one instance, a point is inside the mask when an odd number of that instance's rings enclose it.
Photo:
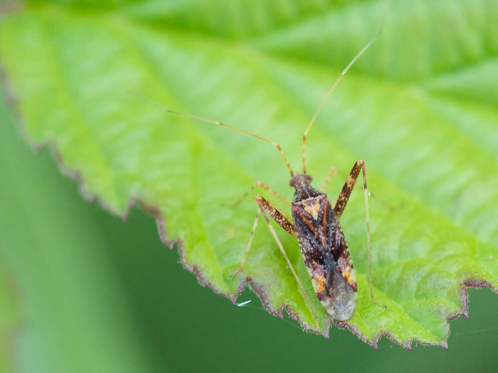
M 302 148 L 302 167 L 303 172 L 301 174 L 295 174 L 283 153 L 280 145 L 277 143 L 265 139 L 261 136 L 253 134 L 251 132 L 230 126 L 228 124 L 202 118 L 192 114 L 185 114 L 173 110 L 163 108 L 165 111 L 171 114 L 186 116 L 193 119 L 198 119 L 204 122 L 210 122 L 225 126 L 236 131 L 245 133 L 247 135 L 256 137 L 262 141 L 270 143 L 275 146 L 279 153 L 281 154 L 285 164 L 290 172 L 291 179 L 289 185 L 295 188 L 294 198 L 292 201 L 288 201 L 285 197 L 266 186 L 261 182 L 256 182 L 248 192 L 246 192 L 234 205 L 236 207 L 250 191 L 255 187 L 261 187 L 262 189 L 268 191 L 272 195 L 276 196 L 286 204 L 288 204 L 292 211 L 292 221 L 277 208 L 272 202 L 263 198 L 261 195 L 256 194 L 254 199 L 257 203 L 256 218 L 254 220 L 252 231 L 249 237 L 249 243 L 247 250 L 244 254 L 243 260 L 240 267 L 230 276 L 231 278 L 237 275 L 239 272 L 243 271 L 244 265 L 246 263 L 249 249 L 251 246 L 252 238 L 256 225 L 260 215 L 263 215 L 268 228 L 275 238 L 275 241 L 282 252 L 287 264 L 292 271 L 300 290 L 302 291 L 308 306 L 310 307 L 313 316 L 315 317 L 316 327 L 318 330 L 318 317 L 316 311 L 304 290 L 304 287 L 299 280 L 286 252 L 283 248 L 276 232 L 274 231 L 272 225 L 270 224 L 269 218 L 271 217 L 275 222 L 282 227 L 287 233 L 294 236 L 298 243 L 299 248 L 304 260 L 309 277 L 313 284 L 313 289 L 322 303 L 323 307 L 327 313 L 335 320 L 344 321 L 351 318 L 356 309 L 357 303 L 357 282 L 355 277 L 355 270 L 353 268 L 353 261 L 351 259 L 351 254 L 346 243 L 344 233 L 341 229 L 339 219 L 346 207 L 348 199 L 351 195 L 355 182 L 360 175 L 360 171 L 363 175 L 363 189 L 365 195 L 365 211 L 367 220 L 367 245 L 368 245 L 368 260 L 369 260 L 369 274 L 370 274 L 370 293 L 372 299 L 386 307 L 383 303 L 376 300 L 373 297 L 373 285 L 372 285 L 372 259 L 371 259 L 371 245 L 370 245 L 370 218 L 369 218 L 369 205 L 368 205 L 368 188 L 367 188 L 367 178 L 365 171 L 365 162 L 359 159 L 353 166 L 344 187 L 339 194 L 334 206 L 332 207 L 327 194 L 325 194 L 325 189 L 336 171 L 335 167 L 330 169 L 327 179 L 321 188 L 317 190 L 311 186 L 312 178 L 306 174 L 306 136 L 311 129 L 313 123 L 315 122 L 318 114 L 320 113 L 325 102 L 335 90 L 341 79 L 355 63 L 355 61 L 373 44 L 377 39 L 380 32 L 373 37 L 373 39 L 353 58 L 353 60 L 344 69 L 341 75 L 334 82 L 329 92 L 321 102 L 317 111 L 315 112 L 313 118 L 308 124 L 304 135 L 303 135 L 303 148 Z

